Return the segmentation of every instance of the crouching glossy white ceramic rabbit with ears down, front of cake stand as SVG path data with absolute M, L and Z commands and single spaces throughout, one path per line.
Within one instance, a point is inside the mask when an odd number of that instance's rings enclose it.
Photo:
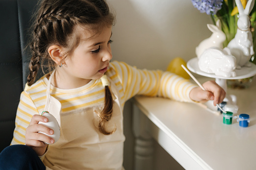
M 222 77 L 235 77 L 236 59 L 228 48 L 211 47 L 206 49 L 198 61 L 199 69 Z

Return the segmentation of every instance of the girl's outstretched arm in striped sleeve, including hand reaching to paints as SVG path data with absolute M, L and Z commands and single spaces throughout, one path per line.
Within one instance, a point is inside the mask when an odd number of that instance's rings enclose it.
M 222 102 L 225 91 L 215 83 L 208 81 L 203 84 L 206 91 L 198 85 L 184 79 L 174 73 L 163 72 L 160 70 L 141 70 L 129 66 L 123 62 L 111 62 L 109 76 L 113 77 L 114 82 L 119 83 L 121 98 L 125 101 L 136 94 L 146 96 L 160 96 L 182 102 L 203 102 L 214 100 L 214 105 Z M 118 79 L 118 80 L 117 80 Z

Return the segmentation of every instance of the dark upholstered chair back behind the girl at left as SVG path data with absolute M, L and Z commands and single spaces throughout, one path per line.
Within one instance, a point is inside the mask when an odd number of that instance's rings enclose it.
M 0 0 L 0 151 L 10 145 L 16 111 L 28 75 L 28 29 L 36 0 Z

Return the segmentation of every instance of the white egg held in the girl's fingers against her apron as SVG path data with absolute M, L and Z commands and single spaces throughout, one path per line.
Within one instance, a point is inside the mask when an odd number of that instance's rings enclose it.
M 40 121 L 40 122 L 38 122 L 38 124 L 43 124 L 44 126 L 47 126 L 47 127 L 51 128 L 54 131 L 54 133 L 52 135 L 46 134 L 46 133 L 41 132 L 41 131 L 39 131 L 38 133 L 43 133 L 47 136 L 50 136 L 51 138 L 54 139 L 54 143 L 56 143 L 59 140 L 59 137 L 60 137 L 59 124 L 58 124 L 56 118 L 52 114 L 45 112 L 43 114 L 43 116 L 48 118 L 48 122 L 41 122 Z M 47 143 L 47 142 L 44 142 L 44 143 L 52 144 L 52 143 Z

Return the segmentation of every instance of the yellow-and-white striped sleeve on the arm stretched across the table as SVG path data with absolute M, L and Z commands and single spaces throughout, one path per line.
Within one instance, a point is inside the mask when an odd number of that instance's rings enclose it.
M 139 94 L 192 102 L 189 93 L 197 85 L 187 79 L 160 70 L 140 70 L 123 62 L 114 61 L 112 65 L 123 86 L 125 100 Z

